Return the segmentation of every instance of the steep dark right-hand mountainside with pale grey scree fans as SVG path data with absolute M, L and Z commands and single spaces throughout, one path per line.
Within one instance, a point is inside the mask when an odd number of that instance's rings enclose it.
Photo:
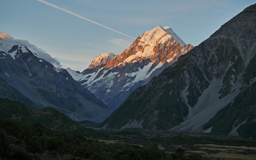
M 137 88 L 100 126 L 143 121 L 146 129 L 256 138 L 255 53 L 256 4 Z

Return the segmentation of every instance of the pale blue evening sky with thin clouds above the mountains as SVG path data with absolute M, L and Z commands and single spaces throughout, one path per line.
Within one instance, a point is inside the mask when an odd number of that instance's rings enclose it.
M 255 4 L 255 0 L 45 1 L 0 0 L 0 35 L 41 52 L 40 58 L 57 67 L 80 72 L 102 53 L 121 54 L 133 38 L 159 25 L 171 27 L 186 44 L 197 46 Z

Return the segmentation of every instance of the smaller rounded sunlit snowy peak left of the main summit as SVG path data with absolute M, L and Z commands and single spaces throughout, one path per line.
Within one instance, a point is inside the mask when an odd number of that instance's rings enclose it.
M 114 54 L 114 53 L 100 54 L 98 57 L 96 57 L 92 60 L 92 64 L 88 68 L 94 68 L 101 64 L 106 64 L 108 61 L 112 60 L 115 57 L 116 57 L 116 54 Z

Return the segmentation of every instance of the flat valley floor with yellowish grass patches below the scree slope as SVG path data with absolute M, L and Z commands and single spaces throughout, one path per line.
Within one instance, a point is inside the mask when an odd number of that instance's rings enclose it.
M 173 153 L 177 148 L 185 154 L 199 153 L 203 159 L 256 159 L 256 141 L 234 136 L 213 136 L 204 133 L 165 132 L 143 129 L 100 130 L 108 138 L 97 138 L 106 143 L 131 143 L 149 147 L 157 144 L 160 150 Z

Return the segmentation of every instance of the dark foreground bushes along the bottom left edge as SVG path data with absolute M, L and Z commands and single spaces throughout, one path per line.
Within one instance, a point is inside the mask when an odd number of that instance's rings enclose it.
M 53 131 L 40 123 L 28 125 L 16 121 L 0 121 L 0 160 L 196 160 L 200 154 L 185 156 L 184 149 L 174 153 L 160 151 L 155 144 L 140 147 L 128 143 L 105 143 L 86 139 L 81 132 Z

